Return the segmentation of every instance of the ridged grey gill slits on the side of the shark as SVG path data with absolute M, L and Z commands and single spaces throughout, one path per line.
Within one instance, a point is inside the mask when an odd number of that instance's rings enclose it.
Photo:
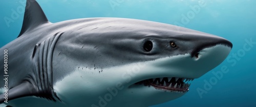
M 59 34 L 58 32 L 47 40 L 37 44 L 32 54 L 32 58 L 35 61 L 34 74 L 36 75 L 35 79 L 32 80 L 36 80 L 34 81 L 34 84 L 37 86 L 37 92 L 40 93 L 36 96 L 53 100 L 55 102 L 57 101 L 56 99 L 59 101 L 61 101 L 61 99 L 54 92 L 52 85 L 52 55 L 56 42 L 63 33 L 64 32 Z

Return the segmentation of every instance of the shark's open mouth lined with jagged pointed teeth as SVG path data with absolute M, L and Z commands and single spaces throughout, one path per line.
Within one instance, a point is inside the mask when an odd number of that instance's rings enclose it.
M 170 91 L 170 92 L 187 92 L 192 78 L 177 78 L 177 77 L 164 77 L 164 78 L 151 78 L 136 82 L 135 84 L 144 84 L 145 86 L 153 86 L 156 89 Z

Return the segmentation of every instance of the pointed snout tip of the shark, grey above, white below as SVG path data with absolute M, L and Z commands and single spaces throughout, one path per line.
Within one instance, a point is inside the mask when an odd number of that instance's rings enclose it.
M 222 63 L 232 49 L 232 43 L 222 37 L 205 36 L 196 40 L 190 53 L 191 61 L 187 62 L 187 68 L 191 78 L 198 78 Z

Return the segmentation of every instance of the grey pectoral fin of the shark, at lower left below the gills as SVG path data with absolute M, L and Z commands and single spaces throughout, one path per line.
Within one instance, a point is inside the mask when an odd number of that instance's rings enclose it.
M 5 101 L 10 101 L 12 99 L 20 98 L 20 97 L 33 96 L 36 94 L 37 94 L 37 90 L 31 83 L 23 82 L 17 85 L 16 87 L 9 89 L 7 93 L 1 94 L 0 103 L 3 103 Z M 6 97 L 6 95 L 7 95 L 7 99 L 4 98 Z

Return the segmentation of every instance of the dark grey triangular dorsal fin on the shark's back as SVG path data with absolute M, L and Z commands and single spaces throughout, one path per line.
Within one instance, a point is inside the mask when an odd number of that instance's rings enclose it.
M 49 23 L 44 11 L 35 0 L 27 0 L 22 30 L 19 36 L 41 24 Z

